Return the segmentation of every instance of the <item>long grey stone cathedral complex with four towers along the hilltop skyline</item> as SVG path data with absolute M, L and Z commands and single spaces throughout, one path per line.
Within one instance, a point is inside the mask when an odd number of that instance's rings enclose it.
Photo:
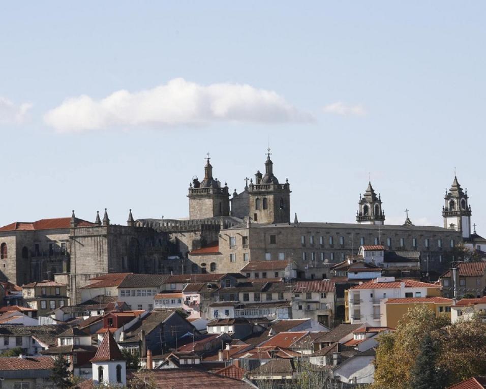
M 328 278 L 329 268 L 360 246 L 383 245 L 419 253 L 422 273 L 434 279 L 454 261 L 451 250 L 458 244 L 486 247 L 471 233 L 468 194 L 455 176 L 441 227 L 416 226 L 408 216 L 402 225 L 387 225 L 371 182 L 359 195 L 356 223 L 308 223 L 296 215 L 291 220 L 290 184 L 274 173 L 270 155 L 268 150 L 264 173 L 257 170 L 232 194 L 214 178 L 208 155 L 204 178 L 194 176 L 188 188 L 187 219 L 135 219 L 130 210 L 127 225 L 112 225 L 105 209 L 94 222 L 73 211 L 71 218 L 0 227 L 0 277 L 22 285 L 55 275 L 78 300 L 77 290 L 89 278 L 108 272 L 239 273 L 248 262 L 279 267 L 276 261 L 285 261 L 298 278 Z

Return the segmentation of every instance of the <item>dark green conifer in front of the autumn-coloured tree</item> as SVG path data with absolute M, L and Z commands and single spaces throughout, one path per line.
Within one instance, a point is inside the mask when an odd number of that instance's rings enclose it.
M 420 352 L 410 373 L 410 387 L 413 389 L 443 389 L 446 372 L 437 366 L 438 342 L 426 334 L 420 345 Z

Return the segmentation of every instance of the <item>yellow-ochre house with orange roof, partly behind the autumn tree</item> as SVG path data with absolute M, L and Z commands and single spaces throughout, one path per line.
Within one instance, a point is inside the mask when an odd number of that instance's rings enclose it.
M 450 307 L 454 302 L 451 298 L 445 297 L 388 298 L 381 302 L 381 325 L 396 328 L 399 320 L 417 304 L 426 306 L 435 312 L 436 316 L 446 314 L 450 318 Z

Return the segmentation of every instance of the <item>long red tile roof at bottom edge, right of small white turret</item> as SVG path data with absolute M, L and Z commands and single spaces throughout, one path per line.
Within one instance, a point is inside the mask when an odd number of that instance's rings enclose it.
M 137 373 L 134 373 L 136 379 Z M 197 369 L 156 369 L 150 372 L 150 380 L 160 388 L 217 388 L 217 389 L 250 389 L 254 386 L 241 380 L 223 377 Z

